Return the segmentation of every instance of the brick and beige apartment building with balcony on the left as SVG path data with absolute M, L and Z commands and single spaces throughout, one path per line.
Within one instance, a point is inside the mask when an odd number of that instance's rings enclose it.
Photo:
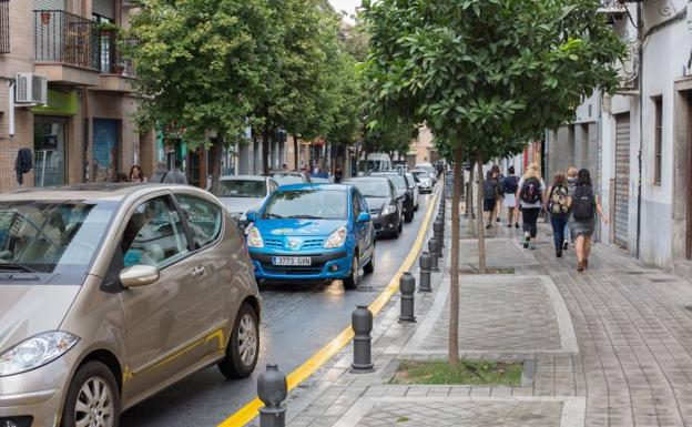
M 118 43 L 135 12 L 126 0 L 0 0 L 0 191 L 153 172 L 162 141 L 134 122 L 134 70 Z M 11 103 L 19 73 L 47 80 L 45 104 Z M 33 167 L 18 175 L 21 149 Z

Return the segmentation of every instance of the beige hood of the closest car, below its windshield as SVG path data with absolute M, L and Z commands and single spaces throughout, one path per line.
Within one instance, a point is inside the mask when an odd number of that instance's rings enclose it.
M 79 291 L 80 286 L 0 285 L 0 353 L 58 329 Z

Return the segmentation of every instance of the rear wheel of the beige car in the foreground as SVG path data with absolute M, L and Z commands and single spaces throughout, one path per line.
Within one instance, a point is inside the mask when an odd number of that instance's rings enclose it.
M 235 316 L 226 357 L 218 363 L 218 370 L 227 378 L 247 378 L 255 370 L 258 355 L 258 316 L 250 304 L 243 303 Z

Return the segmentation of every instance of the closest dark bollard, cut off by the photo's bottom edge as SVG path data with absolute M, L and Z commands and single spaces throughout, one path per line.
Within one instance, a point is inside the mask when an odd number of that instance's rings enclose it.
M 257 377 L 257 396 L 264 403 L 260 408 L 260 427 L 284 427 L 286 408 L 282 403 L 288 395 L 286 376 L 277 365 L 267 365 L 266 370 Z

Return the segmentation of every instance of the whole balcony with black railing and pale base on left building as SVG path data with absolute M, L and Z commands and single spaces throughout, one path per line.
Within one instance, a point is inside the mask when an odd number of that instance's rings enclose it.
M 119 30 L 62 10 L 34 11 L 37 72 L 51 82 L 130 91 L 119 79 L 134 74 L 123 59 Z

